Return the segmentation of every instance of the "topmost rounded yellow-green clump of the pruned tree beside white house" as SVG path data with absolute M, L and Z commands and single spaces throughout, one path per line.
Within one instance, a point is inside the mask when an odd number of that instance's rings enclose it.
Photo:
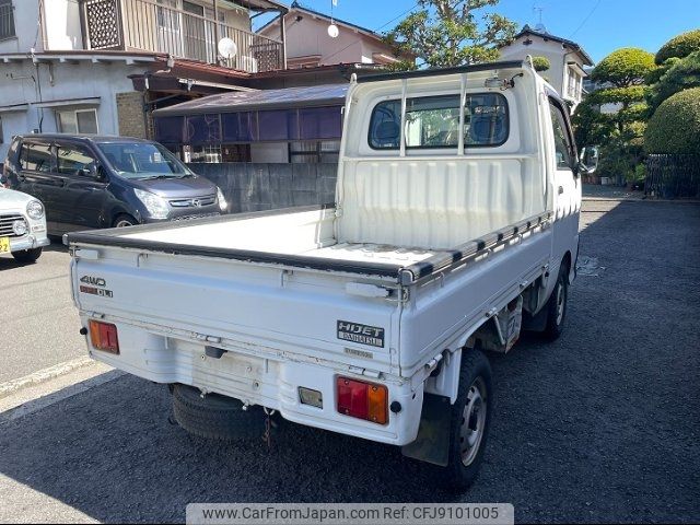
M 641 84 L 656 68 L 654 56 L 637 47 L 622 47 L 612 51 L 593 68 L 591 80 L 611 82 L 618 88 Z

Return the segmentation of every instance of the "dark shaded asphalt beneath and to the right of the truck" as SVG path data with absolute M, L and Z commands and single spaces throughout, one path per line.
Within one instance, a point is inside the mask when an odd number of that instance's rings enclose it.
M 226 501 L 512 502 L 527 522 L 700 521 L 700 206 L 587 201 L 582 229 L 597 265 L 571 289 L 564 335 L 489 357 L 493 427 L 466 493 L 439 489 L 439 469 L 392 446 L 293 424 L 270 451 L 191 438 L 168 423 L 164 386 L 119 376 L 0 422 L 0 522 L 182 522 L 188 502 Z

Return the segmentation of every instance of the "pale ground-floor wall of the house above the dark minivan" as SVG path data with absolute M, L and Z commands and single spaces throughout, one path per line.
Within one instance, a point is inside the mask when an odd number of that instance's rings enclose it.
M 34 103 L 66 101 L 74 98 L 100 97 L 97 125 L 103 135 L 118 135 L 117 94 L 133 91 L 129 74 L 143 72 L 143 66 L 126 66 L 125 62 L 92 63 L 89 60 L 77 65 L 52 62 L 52 79 L 49 66 L 33 65 L 31 60 L 21 63 L 2 65 L 0 74 L 0 105 L 30 104 L 28 109 L 2 114 L 3 143 L 0 144 L 0 159 L 4 159 L 10 137 L 40 129 L 44 132 L 57 131 L 56 110 L 83 108 L 86 106 L 61 106 L 37 108 Z M 14 80 L 12 77 L 14 77 Z M 38 79 L 36 82 L 32 79 Z M 38 86 L 42 88 L 39 97 Z

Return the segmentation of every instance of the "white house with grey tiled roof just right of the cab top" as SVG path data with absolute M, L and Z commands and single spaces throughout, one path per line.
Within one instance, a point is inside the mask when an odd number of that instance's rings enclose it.
M 541 74 L 569 103 L 572 113 L 583 100 L 583 79 L 587 77 L 584 68 L 594 63 L 575 42 L 548 33 L 541 24 L 534 30 L 525 25 L 500 52 L 503 60 L 522 60 L 527 55 L 547 58 L 551 67 Z

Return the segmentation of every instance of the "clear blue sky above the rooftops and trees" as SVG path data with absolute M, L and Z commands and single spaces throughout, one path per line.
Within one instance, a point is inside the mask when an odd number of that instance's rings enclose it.
M 332 10 L 339 19 L 382 33 L 393 28 L 416 1 L 337 0 Z M 300 3 L 330 13 L 331 0 Z M 620 47 L 656 52 L 677 34 L 700 28 L 700 0 L 501 0 L 495 7 L 518 28 L 538 23 L 540 9 L 549 33 L 576 42 L 596 62 Z

